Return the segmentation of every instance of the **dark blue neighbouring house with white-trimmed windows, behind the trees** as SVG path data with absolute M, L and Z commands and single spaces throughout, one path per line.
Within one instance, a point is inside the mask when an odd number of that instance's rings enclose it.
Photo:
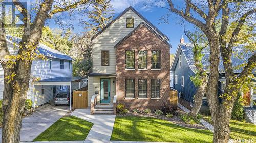
M 202 64 L 206 72 L 208 71 L 209 67 L 209 48 L 205 48 L 203 51 L 204 57 L 202 58 Z M 250 58 L 253 54 L 251 52 L 245 52 L 243 49 L 243 45 L 239 45 L 233 48 L 234 53 L 241 53 L 243 55 L 239 56 L 232 56 L 232 64 L 234 67 L 234 73 L 239 74 L 243 70 L 243 67 L 239 67 L 239 65 L 243 64 Z M 180 97 L 185 105 L 188 108 L 193 107 L 193 97 L 197 91 L 197 88 L 194 86 L 193 82 L 190 80 L 190 76 L 194 76 L 197 68 L 194 65 L 194 58 L 193 58 L 193 44 L 184 43 L 184 39 L 181 39 L 181 42 L 177 48 L 175 53 L 175 58 L 170 68 L 170 71 L 173 72 L 173 80 L 174 85 L 173 88 L 180 93 Z M 256 74 L 256 70 L 252 71 L 252 74 Z M 256 101 L 256 90 L 255 87 L 256 80 L 252 79 L 250 86 L 250 91 L 247 93 L 242 93 L 243 98 L 245 99 L 245 106 L 246 107 L 253 107 L 253 100 Z M 218 95 L 220 95 L 225 89 L 225 72 L 223 62 L 220 59 L 219 65 L 219 82 L 218 82 Z M 221 100 L 221 99 L 220 99 Z M 207 108 L 207 100 L 206 95 L 203 97 L 203 104 L 201 109 Z

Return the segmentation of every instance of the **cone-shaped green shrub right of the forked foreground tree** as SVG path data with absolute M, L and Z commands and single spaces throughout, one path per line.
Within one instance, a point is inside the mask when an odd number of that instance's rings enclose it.
M 231 113 L 231 118 L 236 120 L 242 120 L 244 117 L 244 103 L 241 93 L 238 93 L 236 102 L 234 102 L 234 107 Z

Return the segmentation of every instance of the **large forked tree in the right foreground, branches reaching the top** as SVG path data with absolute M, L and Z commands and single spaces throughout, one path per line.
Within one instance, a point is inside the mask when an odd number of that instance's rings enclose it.
M 176 13 L 191 24 L 199 27 L 206 35 L 210 47 L 210 68 L 209 80 L 207 83 L 207 101 L 209 104 L 211 118 L 214 126 L 214 142 L 228 142 L 229 120 L 241 85 L 245 84 L 248 76 L 256 67 L 256 53 L 254 53 L 244 64 L 242 72 L 237 76 L 232 67 L 232 49 L 237 42 L 238 34 L 245 23 L 255 21 L 252 15 L 255 14 L 255 1 L 228 1 L 208 0 L 192 2 L 185 1 L 185 8 L 179 10 L 172 0 L 167 0 L 170 12 Z M 196 15 L 196 16 L 195 16 Z M 232 17 L 231 20 L 229 19 Z M 220 18 L 220 19 L 218 19 Z M 217 23 L 220 21 L 220 30 L 217 31 Z M 237 22 L 231 37 L 227 38 L 228 25 Z M 254 48 L 255 47 L 251 47 Z M 219 78 L 219 61 L 223 59 L 225 68 L 226 88 L 220 96 L 222 103 L 217 97 L 217 84 Z

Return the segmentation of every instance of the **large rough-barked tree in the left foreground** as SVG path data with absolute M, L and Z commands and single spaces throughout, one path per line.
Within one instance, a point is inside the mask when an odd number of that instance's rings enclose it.
M 45 21 L 52 18 L 54 14 L 70 11 L 78 8 L 80 5 L 88 4 L 90 1 L 80 0 L 71 1 L 40 1 L 38 11 L 26 9 L 20 1 L 12 1 L 15 7 L 23 15 L 24 25 L 30 25 L 30 34 L 23 33 L 22 40 L 19 43 L 17 55 L 11 55 L 6 41 L 6 35 L 3 31 L 0 33 L 0 62 L 4 70 L 4 92 L 3 92 L 3 128 L 2 142 L 19 142 L 20 129 L 22 127 L 22 111 L 26 100 L 26 94 L 29 88 L 31 73 L 31 64 L 34 58 L 38 58 L 36 47 L 39 44 L 42 29 Z M 100 0 L 95 0 L 101 3 Z M 32 20 L 32 17 L 34 19 Z M 1 28 L 5 28 L 3 19 L 0 21 Z

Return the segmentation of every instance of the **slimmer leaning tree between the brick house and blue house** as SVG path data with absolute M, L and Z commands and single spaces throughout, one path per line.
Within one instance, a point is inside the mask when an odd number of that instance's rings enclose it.
M 201 30 L 195 27 L 196 30 L 193 32 L 189 30 L 186 31 L 184 21 L 183 25 L 185 35 L 188 37 L 189 42 L 193 44 L 194 65 L 197 68 L 195 76 L 190 76 L 190 80 L 194 83 L 195 87 L 197 87 L 197 91 L 194 95 L 194 106 L 188 113 L 188 116 L 195 118 L 202 106 L 203 96 L 207 85 L 207 73 L 202 64 L 202 58 L 204 56 L 202 51 L 208 46 L 208 42 Z

